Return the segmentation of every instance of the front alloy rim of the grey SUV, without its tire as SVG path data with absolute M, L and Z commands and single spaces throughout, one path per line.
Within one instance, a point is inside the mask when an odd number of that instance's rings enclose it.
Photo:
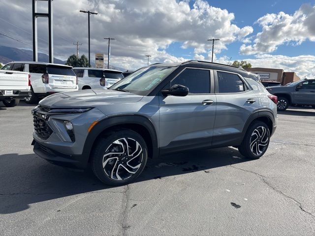
M 103 170 L 112 180 L 125 180 L 133 176 L 143 162 L 143 149 L 131 138 L 121 138 L 106 149 Z

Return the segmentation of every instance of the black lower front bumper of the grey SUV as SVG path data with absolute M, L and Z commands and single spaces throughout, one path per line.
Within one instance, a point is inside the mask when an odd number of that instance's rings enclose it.
M 34 146 L 34 153 L 52 164 L 75 169 L 85 169 L 87 167 L 86 160 L 88 158 L 83 155 L 64 154 L 48 148 L 43 143 L 36 142 L 35 140 L 33 140 L 32 145 Z

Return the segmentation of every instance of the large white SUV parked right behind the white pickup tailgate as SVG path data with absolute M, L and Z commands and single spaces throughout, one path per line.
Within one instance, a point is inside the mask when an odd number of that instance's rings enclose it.
M 2 70 L 16 70 L 30 73 L 31 94 L 26 103 L 36 103 L 38 98 L 56 92 L 78 90 L 78 80 L 71 66 L 34 61 L 12 61 Z

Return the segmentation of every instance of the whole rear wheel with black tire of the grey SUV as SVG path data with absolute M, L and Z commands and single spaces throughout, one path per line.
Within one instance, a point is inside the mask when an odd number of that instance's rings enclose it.
M 264 133 L 264 131 L 266 133 Z M 261 134 L 263 134 L 262 137 L 258 136 L 260 132 Z M 256 137 L 257 140 L 255 141 Z M 262 121 L 254 121 L 248 128 L 242 141 L 242 144 L 238 147 L 238 150 L 243 156 L 247 158 L 259 159 L 267 151 L 269 141 L 270 131 L 268 129 L 267 124 Z

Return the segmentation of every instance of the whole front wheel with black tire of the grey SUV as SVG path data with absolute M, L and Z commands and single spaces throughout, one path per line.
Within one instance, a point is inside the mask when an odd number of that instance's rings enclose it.
M 134 158 L 133 155 L 126 154 L 126 146 L 129 147 L 128 151 L 134 154 Z M 128 184 L 137 178 L 143 171 L 147 159 L 148 148 L 141 135 L 132 130 L 124 129 L 110 132 L 106 137 L 98 140 L 91 153 L 91 166 L 95 176 L 100 181 L 108 185 L 118 186 Z M 125 168 L 134 174 L 130 174 Z

